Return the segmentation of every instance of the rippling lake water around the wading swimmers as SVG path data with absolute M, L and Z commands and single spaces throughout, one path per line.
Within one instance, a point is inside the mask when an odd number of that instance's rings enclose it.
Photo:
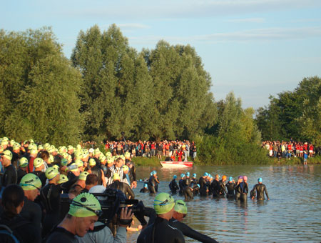
M 161 184 L 158 192 L 168 192 L 173 175 L 190 172 L 198 178 L 204 173 L 225 174 L 236 178 L 248 176 L 249 189 L 263 178 L 270 201 L 247 204 L 228 199 L 195 197 L 187 202 L 185 224 L 207 234 L 218 242 L 321 242 L 321 166 L 213 166 L 192 169 L 138 167 L 138 179 L 149 177 L 156 169 Z M 146 207 L 153 206 L 155 196 L 139 193 L 143 183 L 134 189 L 136 198 Z M 183 199 L 178 195 L 175 199 Z M 136 225 L 137 226 L 137 225 Z M 128 233 L 128 242 L 136 242 L 138 233 Z M 185 237 L 186 242 L 196 242 Z

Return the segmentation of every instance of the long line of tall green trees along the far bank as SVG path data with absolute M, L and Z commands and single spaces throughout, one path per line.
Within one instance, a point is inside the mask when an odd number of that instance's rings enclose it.
M 312 79 L 320 92 L 320 79 Z M 255 111 L 243 109 L 233 93 L 215 101 L 211 84 L 192 46 L 161 40 L 137 51 L 115 24 L 80 31 L 69 59 L 50 28 L 0 31 L 0 135 L 16 141 L 76 144 L 116 140 L 125 132 L 132 141 L 195 140 L 203 161 L 245 163 L 262 159 L 260 130 L 266 138 L 295 127 L 280 123 L 289 117 L 275 114 L 279 103 L 259 109 L 255 120 Z M 302 93 L 309 98 L 302 99 L 304 114 L 289 109 L 288 115 L 313 128 L 307 117 L 317 115 L 307 108 L 320 106 L 320 99 Z M 271 122 L 279 128 L 265 126 Z M 289 128 L 282 132 L 284 126 Z

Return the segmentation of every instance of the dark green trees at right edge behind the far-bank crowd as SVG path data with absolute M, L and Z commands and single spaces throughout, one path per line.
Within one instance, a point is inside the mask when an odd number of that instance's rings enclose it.
M 321 145 L 321 79 L 302 79 L 294 91 L 270 97 L 270 105 L 257 111 L 263 139 L 308 141 Z

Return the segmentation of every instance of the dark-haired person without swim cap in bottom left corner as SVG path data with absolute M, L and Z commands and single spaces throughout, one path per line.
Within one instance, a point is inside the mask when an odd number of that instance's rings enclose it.
M 40 243 L 41 237 L 35 225 L 21 217 L 21 209 L 24 209 L 24 190 L 16 184 L 11 184 L 4 189 L 1 199 L 1 206 L 4 211 L 0 215 L 0 224 L 11 229 L 13 235 L 19 242 Z M 3 228 L 2 228 L 3 229 Z M 6 240 L 7 239 L 7 240 Z M 0 242 L 15 242 L 10 237 L 1 234 Z

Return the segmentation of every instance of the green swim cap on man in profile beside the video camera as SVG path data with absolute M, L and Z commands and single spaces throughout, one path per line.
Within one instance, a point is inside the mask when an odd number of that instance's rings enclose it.
M 102 214 L 101 204 L 93 194 L 84 192 L 73 199 L 70 204 L 68 214 L 78 218 L 91 216 L 99 217 Z

